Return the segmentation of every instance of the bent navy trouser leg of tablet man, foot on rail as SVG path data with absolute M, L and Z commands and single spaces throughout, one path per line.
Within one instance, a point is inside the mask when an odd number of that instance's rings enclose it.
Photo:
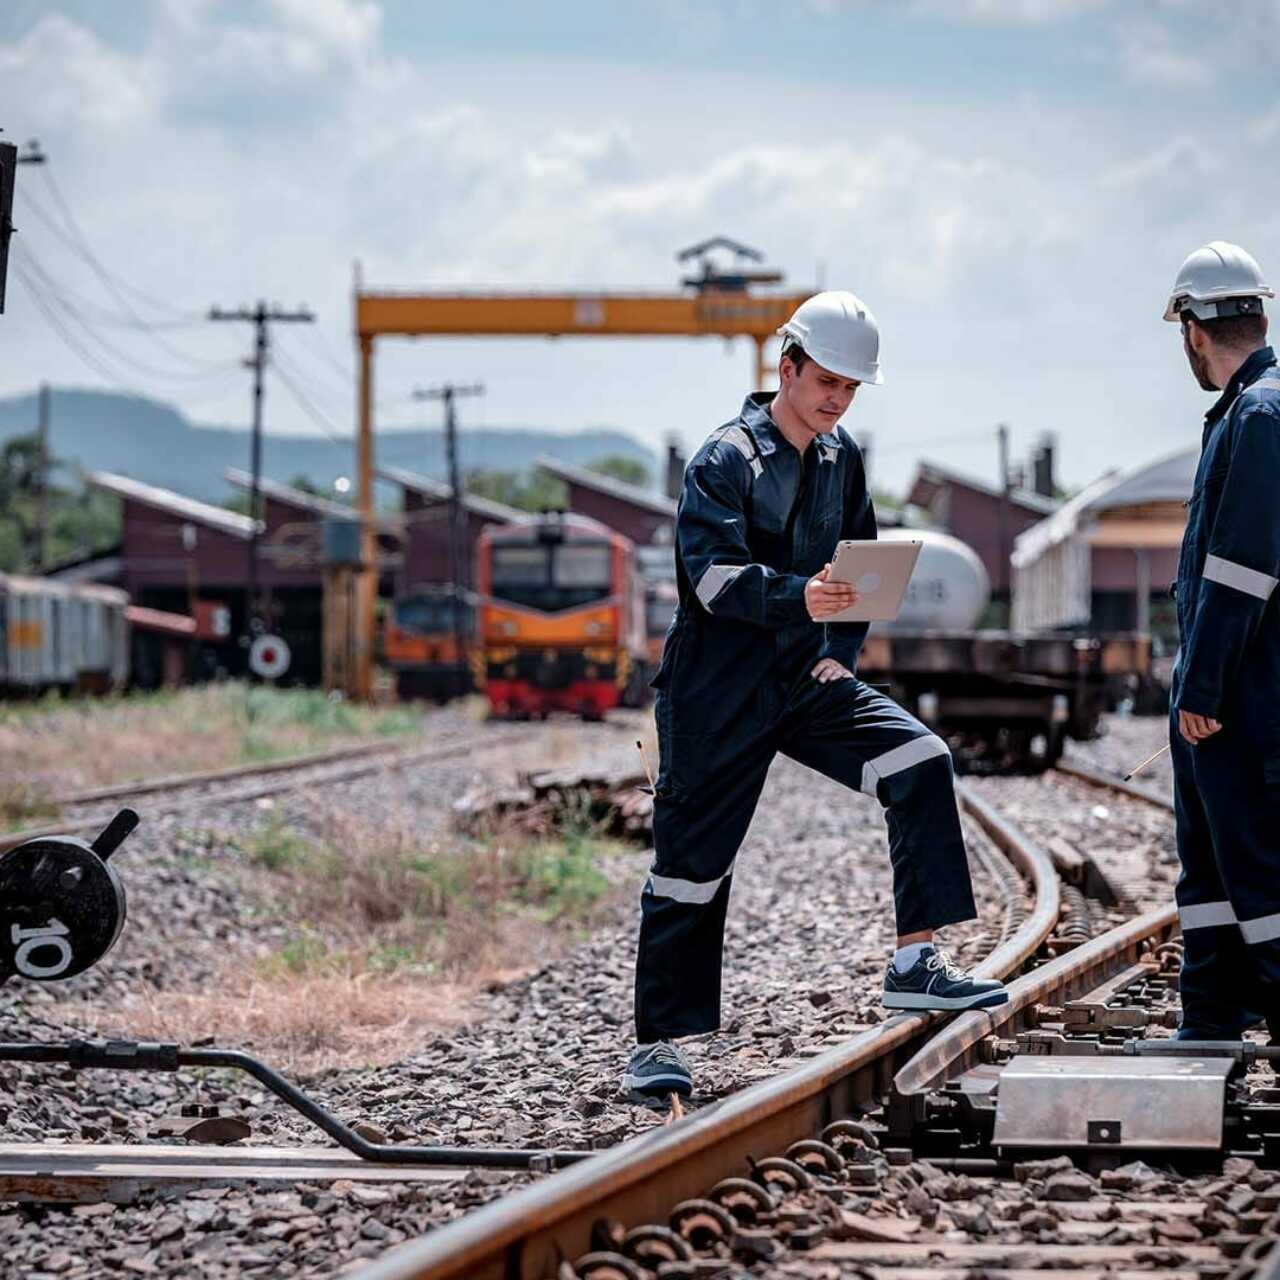
M 914 716 L 860 680 L 803 687 L 781 749 L 884 805 L 897 932 L 977 915 L 951 753 Z

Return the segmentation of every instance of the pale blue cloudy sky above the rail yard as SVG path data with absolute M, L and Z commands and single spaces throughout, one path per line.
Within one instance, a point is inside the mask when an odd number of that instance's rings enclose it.
M 993 479 L 1000 421 L 1018 453 L 1056 433 L 1082 484 L 1198 440 L 1160 320 L 1185 253 L 1280 274 L 1277 36 L 1280 0 L 3 0 L 0 127 L 50 164 L 19 172 L 0 396 L 244 421 L 247 326 L 201 316 L 265 297 L 319 315 L 279 330 L 269 428 L 349 434 L 357 260 L 398 289 L 653 289 L 726 233 L 879 316 L 887 381 L 846 425 L 882 485 L 920 454 Z M 692 445 L 751 352 L 385 342 L 380 422 L 445 378 L 485 381 L 470 421 Z

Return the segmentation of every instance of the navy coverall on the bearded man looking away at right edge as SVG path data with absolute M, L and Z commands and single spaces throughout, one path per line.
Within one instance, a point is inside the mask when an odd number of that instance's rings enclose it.
M 1170 724 L 1183 1027 L 1280 1014 L 1280 370 L 1256 351 L 1204 420 L 1178 564 Z M 1196 746 L 1178 712 L 1220 721 Z

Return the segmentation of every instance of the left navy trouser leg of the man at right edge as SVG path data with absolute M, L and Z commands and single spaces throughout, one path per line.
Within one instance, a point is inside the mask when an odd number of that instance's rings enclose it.
M 1196 781 L 1197 749 L 1178 732 L 1176 716 L 1170 741 L 1181 863 L 1176 897 L 1183 925 L 1183 1027 L 1231 1039 L 1243 1023 L 1247 997 L 1242 992 L 1252 966 L 1213 854 L 1213 833 Z

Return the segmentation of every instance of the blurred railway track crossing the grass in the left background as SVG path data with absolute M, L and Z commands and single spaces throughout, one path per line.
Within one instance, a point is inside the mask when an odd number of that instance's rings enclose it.
M 146 778 L 68 792 L 54 801 L 59 813 L 65 815 L 63 820 L 0 835 L 0 854 L 28 840 L 46 836 L 93 835 L 110 819 L 115 806 L 142 797 L 154 800 L 156 808 L 166 813 L 207 805 L 247 804 L 300 787 L 348 782 L 381 769 L 402 769 L 449 759 L 481 746 L 502 745 L 507 740 L 503 735 L 488 732 L 454 735 L 425 746 L 403 746 L 390 741 L 366 742 L 262 764 L 241 764 L 204 773 Z

